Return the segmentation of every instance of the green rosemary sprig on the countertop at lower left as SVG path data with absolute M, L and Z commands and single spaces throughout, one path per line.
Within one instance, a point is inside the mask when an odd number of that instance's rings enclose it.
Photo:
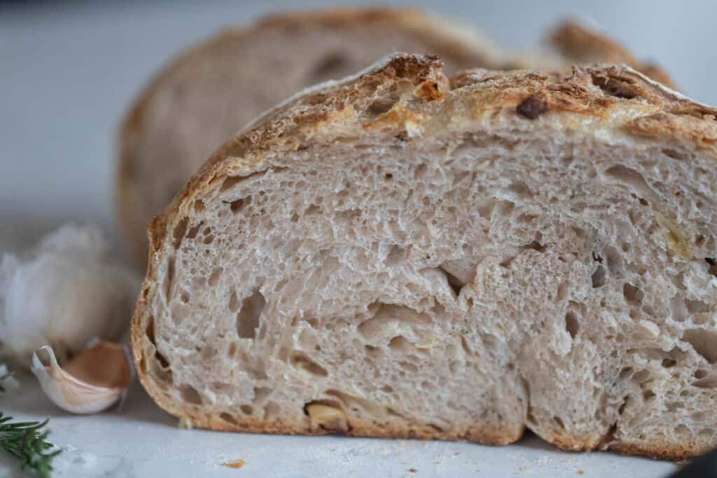
M 49 419 L 11 420 L 11 416 L 4 416 L 0 411 L 0 448 L 19 459 L 22 469 L 34 472 L 39 478 L 48 478 L 52 472 L 52 459 L 62 451 L 49 451 L 54 445 L 45 441 L 49 432 L 42 430 Z

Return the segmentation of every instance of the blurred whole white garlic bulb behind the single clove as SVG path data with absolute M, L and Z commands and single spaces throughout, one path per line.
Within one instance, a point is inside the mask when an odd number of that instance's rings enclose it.
M 0 355 L 29 365 L 50 345 L 62 361 L 128 327 L 140 278 L 95 226 L 62 226 L 21 257 L 0 259 Z

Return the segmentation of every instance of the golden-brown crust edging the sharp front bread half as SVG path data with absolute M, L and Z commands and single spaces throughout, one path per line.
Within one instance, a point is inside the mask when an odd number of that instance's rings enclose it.
M 250 128 L 229 140 L 187 184 L 167 211 L 158 216 L 149 228 L 151 256 L 148 274 L 143 284 L 132 321 L 133 356 L 138 376 L 153 399 L 171 414 L 189 416 L 181 403 L 169 400 L 151 376 L 148 362 L 148 339 L 143 325 L 148 318 L 148 293 L 158 287 L 157 269 L 162 259 L 164 243 L 171 241 L 174 228 L 181 226 L 185 214 L 191 211 L 194 199 L 217 181 L 241 178 L 265 170 L 272 153 L 290 154 L 302 146 L 302 141 L 333 140 L 337 135 L 397 135 L 405 133 L 406 121 L 423 122 L 429 128 L 436 121 L 436 129 L 452 127 L 440 117 L 440 108 L 450 109 L 456 128 L 465 130 L 477 119 L 490 115 L 515 115 L 513 120 L 541 122 L 551 120 L 555 125 L 574 125 L 576 116 L 589 115 L 593 123 L 617 133 L 644 138 L 660 134 L 661 140 L 683 143 L 698 138 L 708 143 L 717 137 L 714 118 L 717 110 L 699 105 L 647 80 L 627 67 L 576 67 L 571 75 L 536 72 L 490 72 L 473 70 L 462 72 L 449 80 L 442 74 L 440 59 L 422 55 L 396 55 L 373 70 L 344 82 L 311 90 L 281 105 L 254 123 Z M 359 110 L 374 97 L 376 91 L 392 87 L 412 91 L 412 103 L 399 102 L 391 110 L 365 118 Z M 531 100 L 533 98 L 533 100 Z M 527 102 L 536 105 L 525 106 Z M 457 107 L 460 105 L 460 109 Z M 523 107 L 521 108 L 521 105 Z M 364 108 L 365 109 L 365 108 Z M 436 113 L 432 118 L 430 113 Z M 521 119 L 522 118 L 522 119 Z M 560 123 L 564 121 L 564 123 Z M 367 128 L 367 125 L 371 128 Z M 373 128 L 380 125 L 380 128 Z M 427 129 L 428 131 L 428 129 Z M 686 143 L 685 143 L 686 144 Z M 712 151 L 717 160 L 717 153 Z M 328 431 L 311 429 L 307 423 L 282 423 L 244 420 L 232 424 L 219 416 L 190 416 L 195 426 L 219 430 L 252 431 L 262 433 L 324 434 Z M 355 436 L 385 436 L 394 438 L 467 439 L 483 444 L 508 444 L 520 438 L 520 433 L 508 430 L 485 429 L 476 426 L 463 431 L 439 431 L 427 424 L 412 426 L 376 426 L 351 421 L 347 433 Z M 549 441 L 563 449 L 594 449 L 600 446 L 630 454 L 670 459 L 683 459 L 701 450 L 678 444 L 648 444 L 637 446 L 614 442 L 602 444 L 600 437 L 548 436 Z

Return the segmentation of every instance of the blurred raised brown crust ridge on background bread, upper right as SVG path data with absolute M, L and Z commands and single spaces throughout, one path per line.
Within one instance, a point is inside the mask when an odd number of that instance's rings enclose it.
M 564 21 L 549 34 L 550 44 L 574 63 L 627 64 L 671 88 L 670 76 L 657 64 L 640 62 L 621 44 L 609 37 L 587 29 L 577 21 Z

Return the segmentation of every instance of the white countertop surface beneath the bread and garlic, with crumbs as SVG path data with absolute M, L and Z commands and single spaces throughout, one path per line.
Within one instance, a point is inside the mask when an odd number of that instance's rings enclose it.
M 56 477 L 660 478 L 675 470 L 652 459 L 558 451 L 536 436 L 493 447 L 184 430 L 138 383 L 122 411 L 73 416 L 49 403 L 33 376 L 19 380 L 19 388 L 0 396 L 0 409 L 22 420 L 50 417 L 49 441 L 63 449 L 54 460 Z M 222 466 L 237 459 L 246 462 L 241 469 Z M 14 476 L 22 476 L 19 467 L 0 453 L 0 478 Z

